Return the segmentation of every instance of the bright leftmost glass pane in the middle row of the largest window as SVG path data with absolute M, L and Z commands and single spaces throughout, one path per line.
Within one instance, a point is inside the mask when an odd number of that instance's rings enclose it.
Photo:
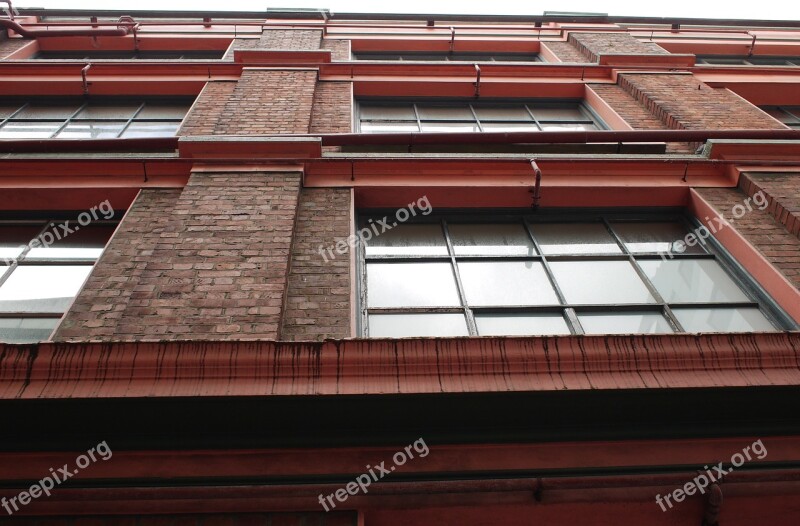
M 369 307 L 455 307 L 458 299 L 450 263 L 369 263 Z

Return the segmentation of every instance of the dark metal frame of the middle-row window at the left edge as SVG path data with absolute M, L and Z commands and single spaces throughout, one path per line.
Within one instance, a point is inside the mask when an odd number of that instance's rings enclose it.
M 142 111 L 144 111 L 148 104 L 158 105 L 163 103 L 185 103 L 186 104 L 186 113 L 183 114 L 180 118 L 178 117 L 171 117 L 171 118 L 140 118 Z M 36 97 L 36 98 L 9 98 L 7 101 L 4 101 L 4 105 L 14 105 L 19 104 L 19 107 L 11 113 L 11 115 L 7 117 L 0 117 L 0 131 L 2 131 L 6 124 L 9 123 L 36 123 L 36 122 L 53 122 L 59 123 L 58 127 L 53 131 L 49 137 L 43 137 L 42 139 L 55 139 L 58 135 L 70 124 L 72 123 L 83 123 L 83 124 L 103 124 L 103 123 L 118 123 L 121 125 L 119 131 L 114 136 L 114 138 L 124 137 L 124 134 L 130 128 L 131 124 L 140 123 L 140 122 L 148 122 L 148 123 L 169 123 L 169 124 L 176 124 L 177 128 L 180 127 L 181 122 L 183 122 L 186 114 L 189 112 L 191 108 L 192 99 L 190 97 L 91 97 L 91 98 L 77 98 L 77 97 Z M 43 105 L 59 105 L 59 104 L 75 104 L 78 109 L 72 112 L 68 117 L 62 118 L 31 118 L 31 117 L 18 117 L 18 115 L 23 112 L 26 108 L 28 108 L 31 104 L 43 104 Z M 102 118 L 102 117 L 93 117 L 91 119 L 80 118 L 78 115 L 86 108 L 91 108 L 93 104 L 102 105 L 102 106 L 113 106 L 115 104 L 123 105 L 123 104 L 136 104 L 138 103 L 138 108 L 133 111 L 130 117 L 126 118 Z M 174 135 L 174 132 L 169 135 Z M 159 135 L 160 136 L 160 135 Z M 13 137 L 11 137 L 13 138 Z M 91 138 L 83 138 L 85 140 L 91 140 Z

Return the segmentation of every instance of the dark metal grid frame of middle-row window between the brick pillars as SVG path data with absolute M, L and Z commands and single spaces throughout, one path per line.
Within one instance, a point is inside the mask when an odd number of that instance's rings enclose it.
M 452 107 L 454 109 L 469 109 L 472 114 L 472 120 L 465 119 L 421 119 L 419 106 L 432 105 L 438 108 Z M 364 119 L 362 115 L 365 106 L 373 107 L 409 107 L 414 111 L 416 120 L 402 120 L 402 119 Z M 476 107 L 504 107 L 523 109 L 528 113 L 531 120 L 497 120 L 497 119 L 483 119 L 478 117 Z M 533 109 L 532 109 L 533 108 Z M 584 119 L 570 119 L 570 120 L 540 120 L 535 116 L 536 108 L 564 108 L 564 109 L 577 109 Z M 567 124 L 567 125 L 591 125 L 599 130 L 609 129 L 608 125 L 600 118 L 597 113 L 586 104 L 583 99 L 577 98 L 564 98 L 564 99 L 435 99 L 435 98 L 359 98 L 356 100 L 356 111 L 354 112 L 356 118 L 356 125 L 359 132 L 363 132 L 362 126 L 364 123 L 401 123 L 401 124 L 416 124 L 417 130 L 420 133 L 438 133 L 438 132 L 425 132 L 422 128 L 423 123 L 462 123 L 471 124 L 479 132 L 485 132 L 482 123 L 496 123 L 496 124 L 532 124 L 536 127 L 537 131 L 542 131 L 543 126 L 552 124 Z M 382 132 L 363 132 L 363 133 L 382 133 Z

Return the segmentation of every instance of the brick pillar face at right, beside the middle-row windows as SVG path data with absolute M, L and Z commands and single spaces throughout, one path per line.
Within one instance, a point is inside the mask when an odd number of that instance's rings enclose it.
M 619 85 L 670 128 L 785 128 L 732 91 L 712 88 L 691 74 L 623 73 Z

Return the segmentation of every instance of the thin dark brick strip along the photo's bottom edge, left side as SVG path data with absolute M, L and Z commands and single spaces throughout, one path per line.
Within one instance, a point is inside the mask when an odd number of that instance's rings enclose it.
M 114 517 L 0 518 L 22 526 L 356 526 L 355 512 L 226 513 L 220 515 L 137 515 Z

